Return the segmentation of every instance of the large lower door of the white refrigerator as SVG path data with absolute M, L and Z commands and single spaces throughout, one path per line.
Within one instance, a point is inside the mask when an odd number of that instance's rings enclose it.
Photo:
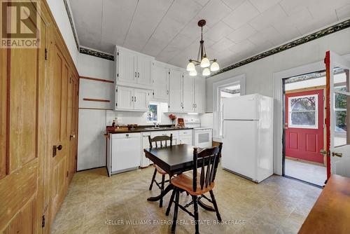
M 224 121 L 221 165 L 256 179 L 258 121 Z

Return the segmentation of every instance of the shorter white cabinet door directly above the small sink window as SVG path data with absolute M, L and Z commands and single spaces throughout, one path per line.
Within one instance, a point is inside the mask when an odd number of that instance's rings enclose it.
M 154 67 L 153 73 L 153 99 L 159 102 L 169 101 L 169 69 Z

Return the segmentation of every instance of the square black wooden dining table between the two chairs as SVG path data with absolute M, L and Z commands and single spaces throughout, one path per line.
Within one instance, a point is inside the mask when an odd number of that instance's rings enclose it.
M 150 148 L 144 149 L 146 158 L 149 158 L 155 165 L 162 168 L 165 172 L 169 174 L 170 177 L 174 177 L 177 174 L 182 174 L 183 172 L 188 172 L 193 170 L 193 148 L 188 144 L 178 144 L 175 146 L 169 146 L 165 148 Z M 198 148 L 198 152 L 202 149 Z M 199 162 L 200 165 L 200 162 Z M 164 189 L 160 195 L 148 198 L 148 201 L 155 202 L 160 200 L 172 191 L 174 186 L 169 183 L 167 188 Z M 201 200 L 198 201 L 198 205 L 203 209 L 207 209 L 211 212 L 215 212 L 214 207 L 204 204 Z

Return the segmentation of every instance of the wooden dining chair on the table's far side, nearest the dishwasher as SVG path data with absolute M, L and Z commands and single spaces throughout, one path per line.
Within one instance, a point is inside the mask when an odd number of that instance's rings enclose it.
M 158 148 L 158 147 L 163 148 L 163 146 L 167 147 L 168 141 L 170 142 L 170 147 L 172 147 L 173 135 L 170 134 L 170 137 L 167 135 L 163 135 L 163 136 L 157 136 L 153 138 L 151 138 L 151 136 L 148 136 L 148 141 L 150 142 L 151 149 L 153 148 L 153 142 L 155 143 L 155 148 Z M 170 181 L 170 177 L 169 179 L 165 180 L 165 175 L 167 174 L 167 172 L 162 170 L 162 168 L 158 167 L 158 165 L 153 164 L 153 167 L 155 167 L 155 170 L 153 172 L 153 177 L 152 177 L 152 181 L 149 189 L 151 191 L 153 187 L 153 183 L 155 183 L 158 186 L 158 188 L 160 188 L 160 193 L 162 193 L 162 191 L 164 191 L 164 184 Z M 157 172 L 162 175 L 162 182 L 160 183 L 155 180 L 155 176 Z M 159 207 L 162 207 L 162 206 L 163 206 L 163 198 L 161 198 L 159 202 Z

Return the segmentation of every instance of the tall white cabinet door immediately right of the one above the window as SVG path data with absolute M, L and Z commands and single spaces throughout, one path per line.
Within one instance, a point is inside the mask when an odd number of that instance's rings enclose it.
M 182 72 L 170 70 L 169 111 L 182 112 Z

